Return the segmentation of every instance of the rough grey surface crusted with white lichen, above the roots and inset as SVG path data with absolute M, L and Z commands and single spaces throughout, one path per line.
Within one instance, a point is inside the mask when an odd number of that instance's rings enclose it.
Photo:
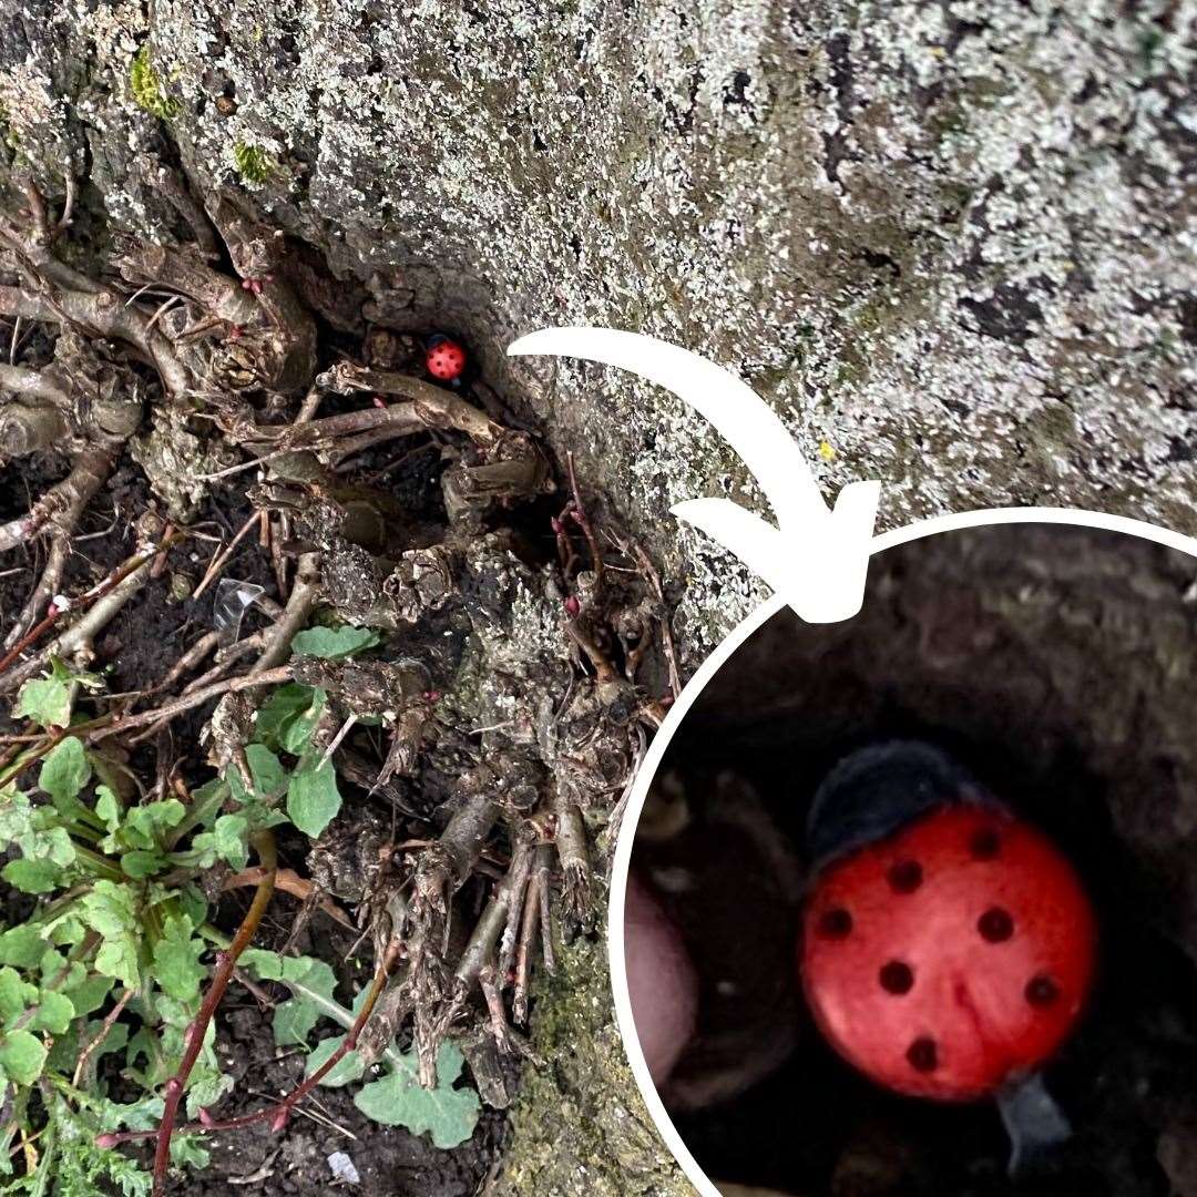
M 698 350 L 828 490 L 883 479 L 887 525 L 1040 503 L 1192 531 L 1195 22 L 1166 0 L 23 0 L 0 104 L 29 157 L 90 156 L 108 217 L 165 235 L 166 130 L 129 84 L 147 43 L 195 176 L 323 249 L 378 318 L 467 335 L 691 583 L 697 660 L 754 588 L 666 511 L 743 470 L 663 393 L 508 370 L 504 345 L 585 322 Z

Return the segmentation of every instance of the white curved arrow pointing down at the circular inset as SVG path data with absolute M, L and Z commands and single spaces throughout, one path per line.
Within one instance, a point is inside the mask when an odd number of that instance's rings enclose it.
M 808 622 L 834 624 L 861 609 L 881 484 L 850 482 L 828 510 L 777 413 L 729 370 L 678 345 L 612 328 L 542 328 L 508 353 L 602 361 L 672 390 L 740 455 L 777 527 L 729 499 L 689 499 L 673 514 L 735 553 Z

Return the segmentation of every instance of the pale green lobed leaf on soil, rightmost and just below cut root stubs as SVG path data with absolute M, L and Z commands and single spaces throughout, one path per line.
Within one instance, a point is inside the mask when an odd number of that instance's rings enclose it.
M 464 1143 L 478 1125 L 481 1102 L 473 1089 L 454 1087 L 462 1069 L 457 1045 L 452 1040 L 442 1044 L 435 1089 L 420 1086 L 414 1052 L 405 1052 L 401 1059 L 402 1067 L 363 1086 L 353 1104 L 367 1118 L 385 1126 L 406 1126 L 413 1135 L 431 1131 L 435 1147 Z

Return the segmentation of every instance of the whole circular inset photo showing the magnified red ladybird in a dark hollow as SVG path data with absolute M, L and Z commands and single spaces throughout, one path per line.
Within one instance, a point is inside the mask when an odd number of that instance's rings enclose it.
M 1099 528 L 925 536 L 683 699 L 615 983 L 709 1192 L 1197 1193 L 1195 579 Z

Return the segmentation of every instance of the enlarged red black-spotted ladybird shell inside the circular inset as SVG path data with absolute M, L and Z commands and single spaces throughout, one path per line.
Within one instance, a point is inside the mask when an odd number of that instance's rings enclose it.
M 1038 831 L 946 807 L 828 865 L 802 976 L 837 1051 L 874 1081 L 967 1101 L 1043 1064 L 1080 1015 L 1095 924 Z

